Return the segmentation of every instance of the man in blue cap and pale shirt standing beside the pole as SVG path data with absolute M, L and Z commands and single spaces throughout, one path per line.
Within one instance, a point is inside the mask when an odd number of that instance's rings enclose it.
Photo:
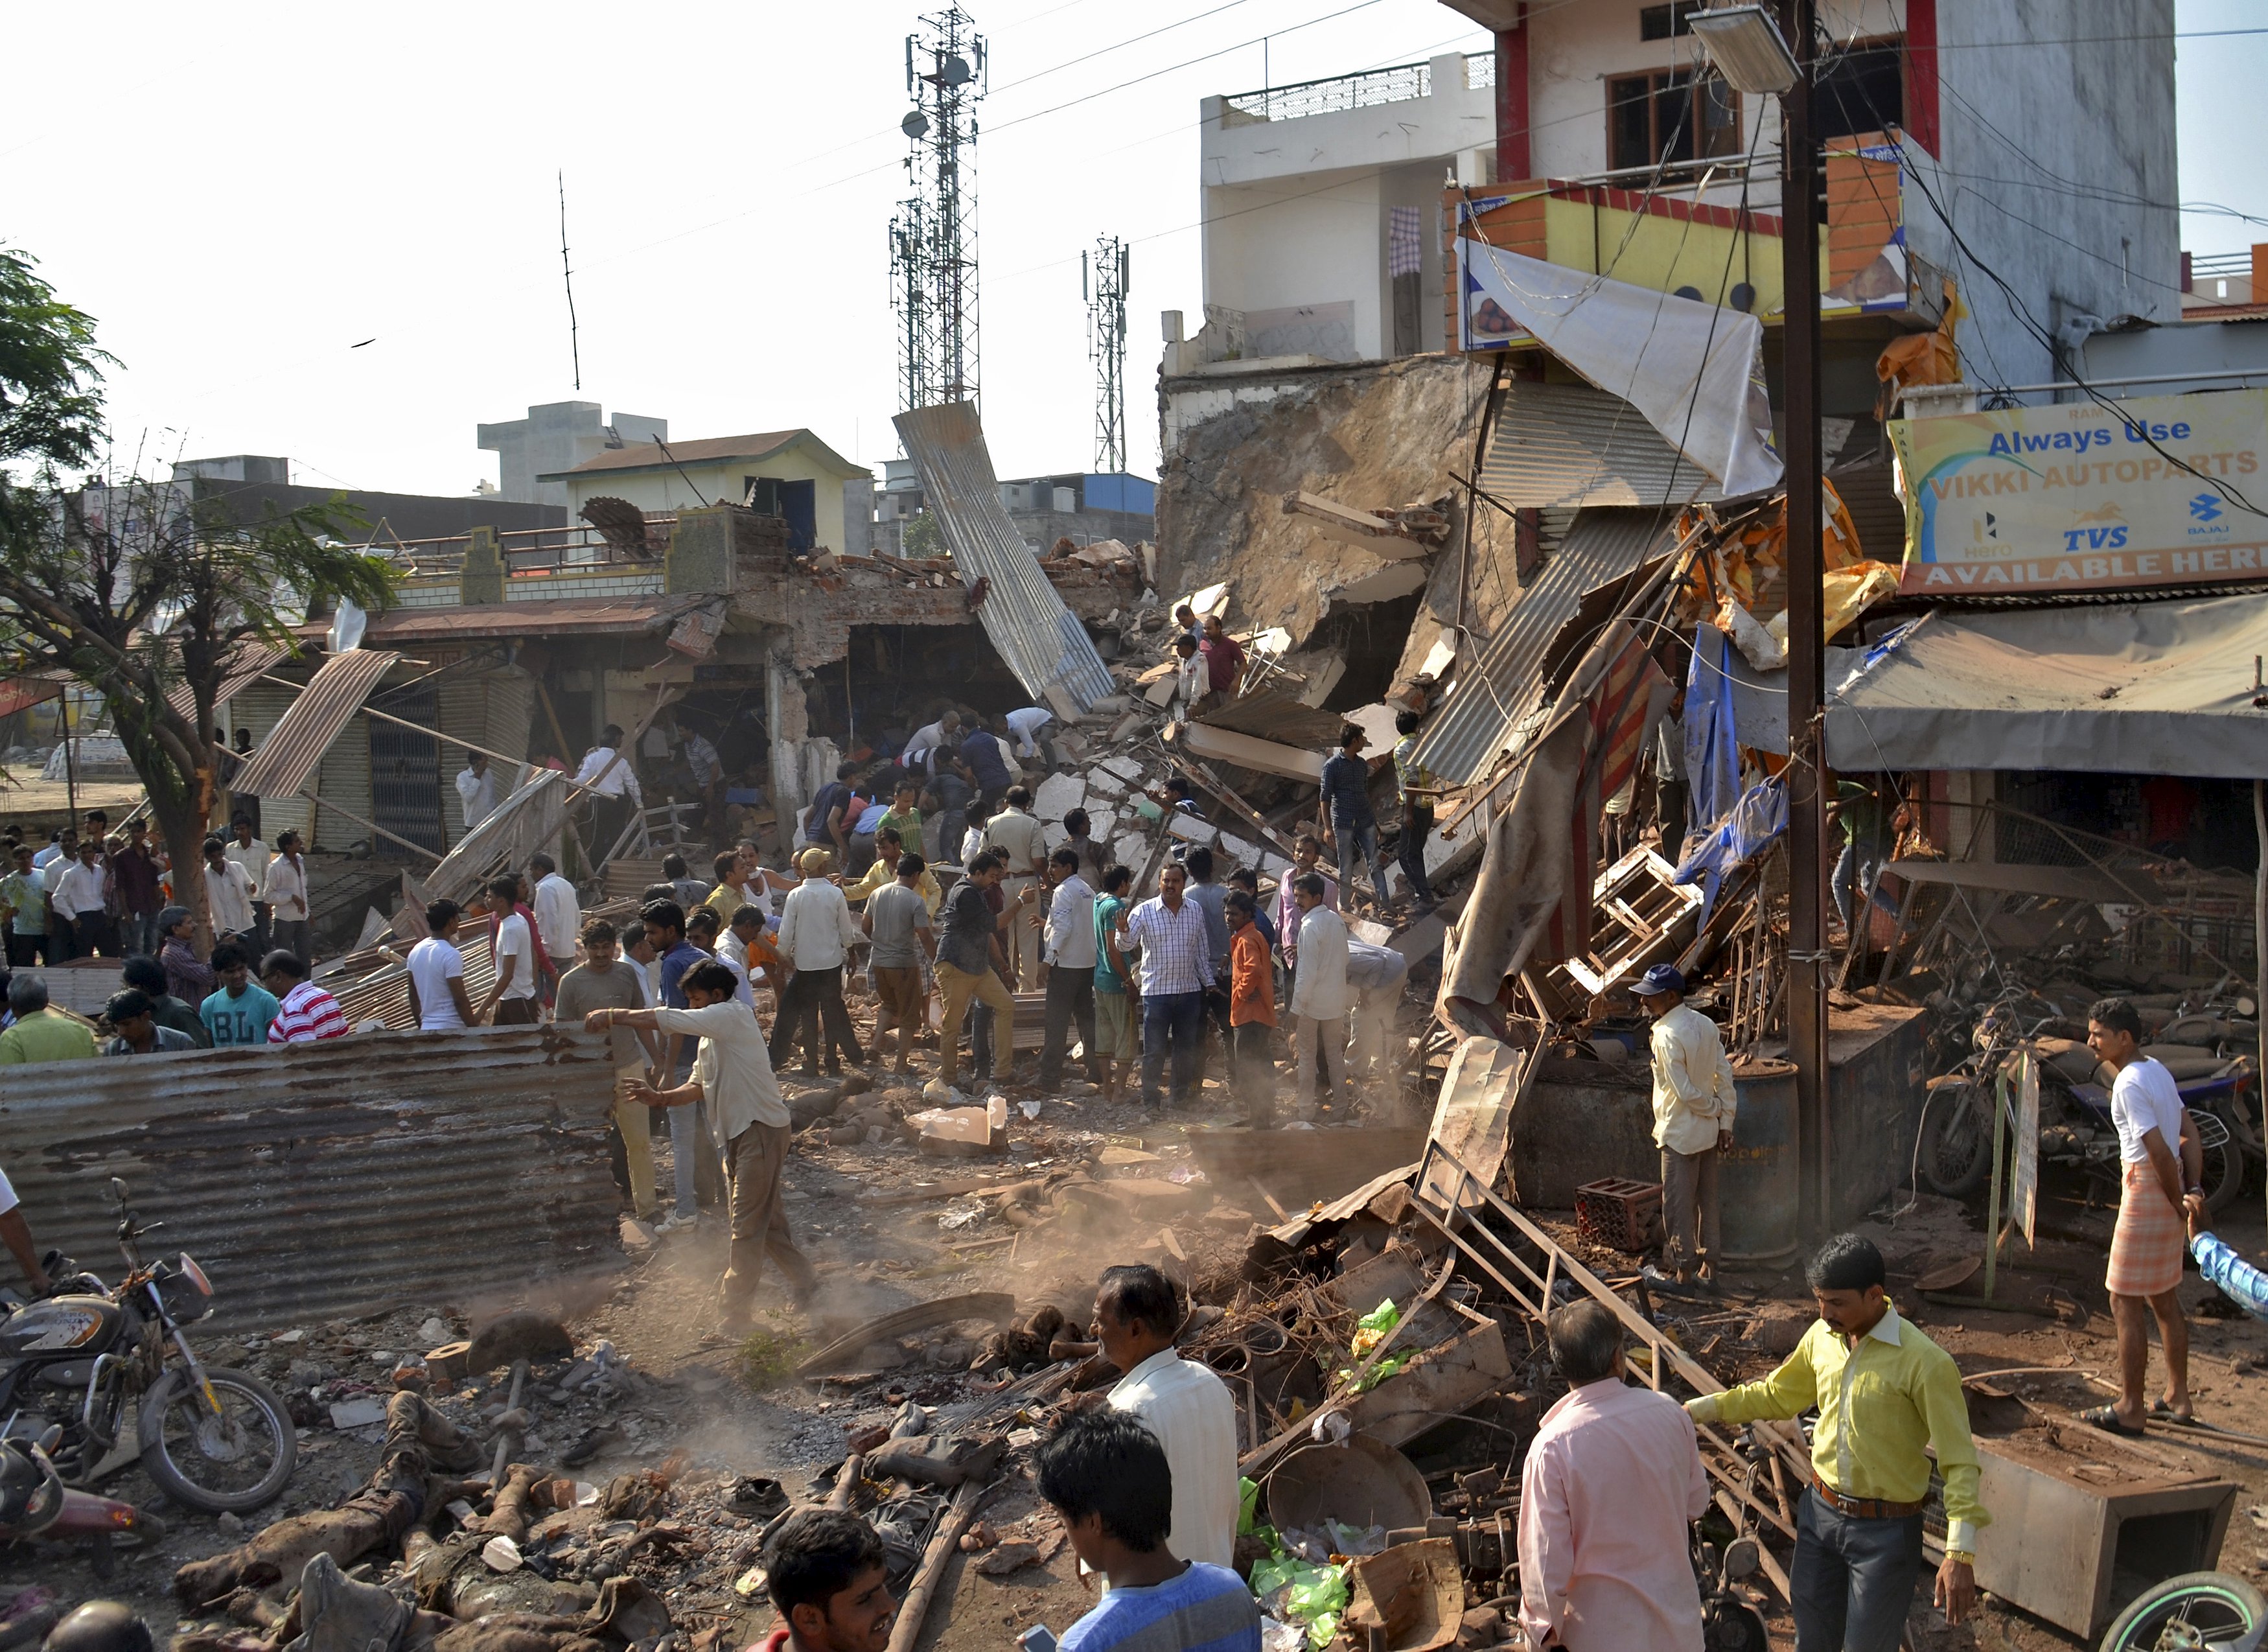
M 1715 1284 L 1717 1155 L 1733 1146 L 1733 1112 L 1740 1105 L 1733 1064 L 1724 1057 L 1717 1023 L 1685 1008 L 1685 976 L 1674 964 L 1649 969 L 1633 987 L 1633 996 L 1653 1017 L 1653 1146 L 1662 1150 L 1662 1264 L 1683 1284 L 1694 1278 L 1699 1262 L 1701 1284 Z

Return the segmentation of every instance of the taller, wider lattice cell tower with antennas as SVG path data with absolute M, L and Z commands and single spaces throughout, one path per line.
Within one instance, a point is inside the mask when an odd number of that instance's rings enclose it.
M 957 5 L 905 36 L 912 195 L 889 222 L 898 311 L 898 397 L 907 408 L 978 399 L 975 104 L 989 84 L 984 39 Z

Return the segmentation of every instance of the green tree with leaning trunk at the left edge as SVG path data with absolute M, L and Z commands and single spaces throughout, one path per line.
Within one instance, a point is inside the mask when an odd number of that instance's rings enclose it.
M 342 497 L 297 511 L 231 511 L 188 481 L 125 477 L 68 488 L 100 449 L 93 320 L 54 297 L 32 261 L 0 250 L 0 626 L 18 672 L 95 688 L 175 865 L 175 894 L 204 914 L 202 844 L 220 790 L 213 703 L 245 647 L 290 644 L 293 624 L 338 599 L 383 608 L 395 570 L 340 542 Z

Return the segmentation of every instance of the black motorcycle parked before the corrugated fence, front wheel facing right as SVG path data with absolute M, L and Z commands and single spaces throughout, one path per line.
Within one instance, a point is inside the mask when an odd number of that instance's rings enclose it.
M 138 1398 L 141 1466 L 175 1502 L 204 1514 L 249 1514 L 290 1480 L 299 1436 L 290 1411 L 243 1371 L 206 1366 L 184 1325 L 213 1312 L 213 1282 L 186 1253 L 145 1264 L 127 1185 L 118 1200 L 116 1289 L 68 1257 L 52 1257 L 54 1291 L 0 1321 L 0 1441 L 45 1441 L 66 1489 L 84 1489 L 118 1446 Z

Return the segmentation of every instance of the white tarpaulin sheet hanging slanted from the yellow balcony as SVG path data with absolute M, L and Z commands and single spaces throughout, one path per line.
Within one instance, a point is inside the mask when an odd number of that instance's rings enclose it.
M 1467 311 L 1497 304 L 1554 356 L 1635 406 L 1728 497 L 1778 486 L 1755 315 L 1472 238 L 1456 245 Z

